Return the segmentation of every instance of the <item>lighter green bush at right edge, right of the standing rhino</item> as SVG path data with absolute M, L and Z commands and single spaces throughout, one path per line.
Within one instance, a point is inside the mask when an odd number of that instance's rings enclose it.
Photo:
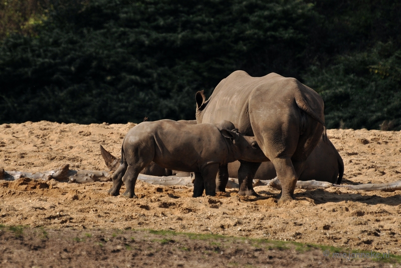
M 323 97 L 328 128 L 401 129 L 401 50 L 392 43 L 338 56 L 304 78 Z

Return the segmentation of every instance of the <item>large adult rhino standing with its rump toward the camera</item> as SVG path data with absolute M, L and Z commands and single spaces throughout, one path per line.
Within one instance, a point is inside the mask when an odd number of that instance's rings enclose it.
M 208 100 L 203 91 L 196 93 L 195 116 L 197 123 L 226 119 L 243 135 L 255 136 L 276 169 L 283 188 L 278 202 L 283 203 L 293 200 L 303 164 L 325 132 L 323 110 L 319 94 L 295 78 L 276 73 L 251 77 L 235 71 L 217 85 Z M 260 163 L 240 162 L 239 195 L 258 196 L 252 179 Z M 218 191 L 225 191 L 228 175 L 227 166 L 222 166 Z

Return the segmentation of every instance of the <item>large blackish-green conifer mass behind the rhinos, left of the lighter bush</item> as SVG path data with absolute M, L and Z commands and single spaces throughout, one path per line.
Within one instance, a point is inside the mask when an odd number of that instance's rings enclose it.
M 296 76 L 300 1 L 53 1 L 37 36 L 0 50 L 0 123 L 193 119 L 194 94 L 232 71 Z

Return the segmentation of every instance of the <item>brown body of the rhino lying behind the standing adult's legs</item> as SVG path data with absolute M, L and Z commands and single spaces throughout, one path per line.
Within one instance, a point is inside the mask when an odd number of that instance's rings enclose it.
M 240 162 L 235 161 L 228 164 L 229 177 L 238 178 Z M 328 140 L 325 143 L 319 141 L 315 150 L 312 151 L 305 161 L 298 180 L 300 181 L 323 181 L 340 184 L 344 175 L 344 163 L 333 144 Z M 263 162 L 255 174 L 254 179 L 271 180 L 277 176 L 272 162 Z

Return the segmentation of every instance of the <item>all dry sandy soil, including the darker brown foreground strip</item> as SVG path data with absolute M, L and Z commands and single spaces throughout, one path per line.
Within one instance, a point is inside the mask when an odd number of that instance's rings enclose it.
M 106 171 L 99 144 L 119 156 L 132 126 L 3 124 L 0 168 Z M 327 132 L 344 160 L 344 184 L 401 180 L 400 131 Z M 401 255 L 400 191 L 296 190 L 296 201 L 278 206 L 279 191 L 268 186 L 255 188 L 258 198 L 236 190 L 192 198 L 190 187 L 137 182 L 139 199 L 125 199 L 108 196 L 111 185 L 0 181 L 0 266 L 399 266 L 265 239 Z

